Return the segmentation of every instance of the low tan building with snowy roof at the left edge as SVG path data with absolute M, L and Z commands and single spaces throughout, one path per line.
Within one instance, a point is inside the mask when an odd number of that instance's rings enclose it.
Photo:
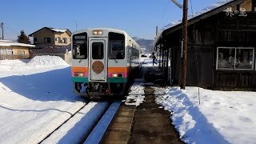
M 30 48 L 34 45 L 0 40 L 0 60 L 30 58 Z

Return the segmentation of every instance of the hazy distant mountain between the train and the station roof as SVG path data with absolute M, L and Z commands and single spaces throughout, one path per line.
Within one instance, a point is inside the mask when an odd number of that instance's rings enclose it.
M 142 46 L 142 53 L 152 52 L 154 50 L 154 40 L 134 37 L 134 40 Z

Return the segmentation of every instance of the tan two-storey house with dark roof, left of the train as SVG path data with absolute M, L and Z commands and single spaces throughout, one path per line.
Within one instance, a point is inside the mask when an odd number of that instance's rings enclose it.
M 59 56 L 69 63 L 71 50 L 71 32 L 68 29 L 54 29 L 43 27 L 29 34 L 34 39 L 35 47 L 30 51 L 32 57 L 36 55 Z

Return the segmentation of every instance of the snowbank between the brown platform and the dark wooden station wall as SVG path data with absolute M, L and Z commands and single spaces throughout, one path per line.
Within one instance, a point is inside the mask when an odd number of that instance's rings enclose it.
M 256 93 L 167 88 L 156 103 L 173 114 L 171 119 L 186 143 L 255 143 Z M 200 98 L 200 104 L 199 104 Z

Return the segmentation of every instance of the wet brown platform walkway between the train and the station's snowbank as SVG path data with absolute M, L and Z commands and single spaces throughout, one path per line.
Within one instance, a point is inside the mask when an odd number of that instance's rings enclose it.
M 150 69 L 142 69 L 143 80 L 134 81 L 100 143 L 184 143 L 170 121 L 170 112 L 155 103 L 155 98 L 164 94 L 155 90 L 165 82 L 152 79 L 158 78 L 154 71 L 158 69 Z

